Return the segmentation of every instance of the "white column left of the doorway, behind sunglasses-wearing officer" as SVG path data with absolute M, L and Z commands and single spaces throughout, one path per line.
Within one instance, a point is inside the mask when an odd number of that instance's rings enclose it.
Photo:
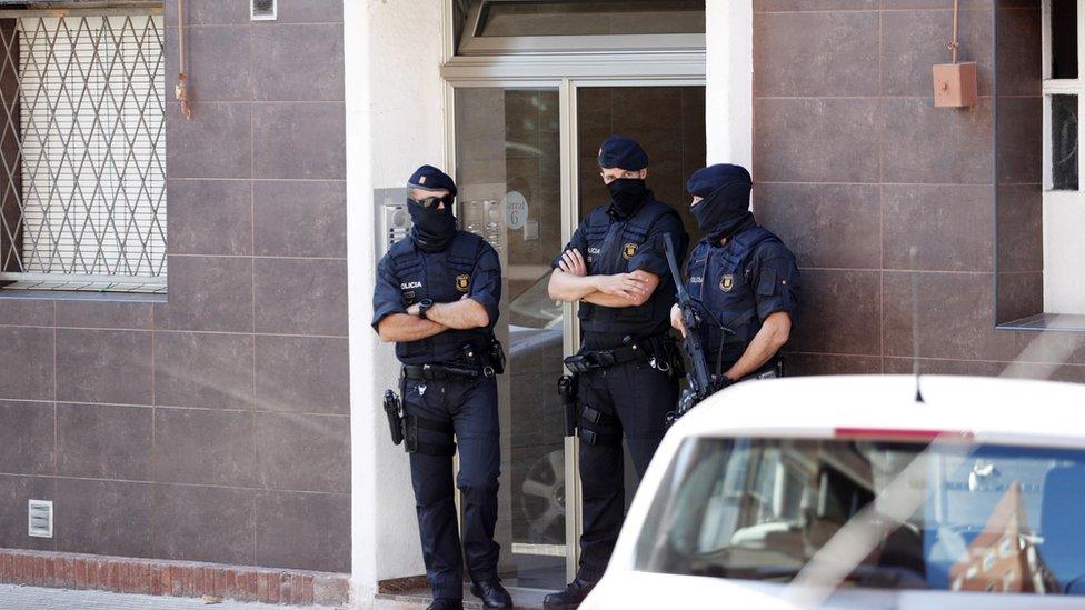
M 369 327 L 376 268 L 375 189 L 402 188 L 421 163 L 445 164 L 440 0 L 344 2 L 347 259 L 350 316 L 352 599 L 381 580 L 425 573 L 407 457 L 381 410 L 398 376 Z

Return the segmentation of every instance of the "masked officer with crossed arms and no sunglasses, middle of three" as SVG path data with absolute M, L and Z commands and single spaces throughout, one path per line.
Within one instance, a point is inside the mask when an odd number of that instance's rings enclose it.
M 578 373 L 584 532 L 576 579 L 544 600 L 576 608 L 603 576 L 625 518 L 621 438 L 643 477 L 678 398 L 680 356 L 669 336 L 675 279 L 663 236 L 679 252 L 689 237 L 678 213 L 645 186 L 648 156 L 614 136 L 599 149 L 610 201 L 580 223 L 554 259 L 549 293 L 579 302 L 581 350 L 566 359 Z

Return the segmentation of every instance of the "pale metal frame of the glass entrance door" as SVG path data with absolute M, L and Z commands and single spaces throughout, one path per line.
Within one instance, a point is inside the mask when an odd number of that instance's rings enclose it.
M 558 90 L 561 241 L 567 243 L 579 224 L 579 159 L 577 92 L 590 87 L 706 87 L 706 52 L 659 50 L 613 53 L 519 53 L 515 56 L 457 57 L 451 2 L 442 2 L 444 23 L 440 73 L 444 81 L 445 164 L 456 174 L 456 90 L 470 88 L 548 88 Z M 707 117 L 706 117 L 707 124 Z M 706 127 L 707 129 L 707 127 Z M 580 324 L 574 303 L 561 308 L 563 354 L 579 349 Z M 576 438 L 565 439 L 565 544 L 566 579 L 576 577 L 580 558 L 581 492 Z M 457 503 L 459 492 L 457 491 Z

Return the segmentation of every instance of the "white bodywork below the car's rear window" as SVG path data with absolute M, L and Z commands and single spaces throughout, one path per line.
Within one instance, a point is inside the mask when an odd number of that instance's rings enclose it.
M 788 586 L 750 580 L 685 577 L 650 572 L 610 570 L 580 606 L 581 610 L 610 608 L 681 608 L 683 610 L 719 608 L 757 608 L 758 610 L 795 610 L 808 608 L 787 601 Z M 972 593 L 950 591 L 893 591 L 842 589 L 818 608 L 863 608 L 886 610 L 1021 608 L 1082 608 L 1081 597 L 1056 597 L 1012 593 Z

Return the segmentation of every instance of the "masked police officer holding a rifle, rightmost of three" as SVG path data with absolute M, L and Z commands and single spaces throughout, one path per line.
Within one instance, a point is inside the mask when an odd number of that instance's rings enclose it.
M 745 168 L 726 163 L 699 169 L 686 182 L 705 238 L 689 254 L 685 281 L 715 389 L 783 374 L 776 353 L 798 310 L 795 254 L 754 220 L 751 187 Z M 670 320 L 685 336 L 677 306 Z

